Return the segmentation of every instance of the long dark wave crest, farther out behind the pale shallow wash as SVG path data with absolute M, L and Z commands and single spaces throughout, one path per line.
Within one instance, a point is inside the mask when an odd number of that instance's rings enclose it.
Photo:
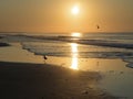
M 123 43 L 117 41 L 105 41 L 105 40 L 88 40 L 82 37 L 72 37 L 72 36 L 30 36 L 39 40 L 49 40 L 49 41 L 61 41 L 69 43 L 79 43 L 86 45 L 96 45 L 96 46 L 108 46 L 108 47 L 117 47 L 117 48 L 133 48 L 132 43 Z

